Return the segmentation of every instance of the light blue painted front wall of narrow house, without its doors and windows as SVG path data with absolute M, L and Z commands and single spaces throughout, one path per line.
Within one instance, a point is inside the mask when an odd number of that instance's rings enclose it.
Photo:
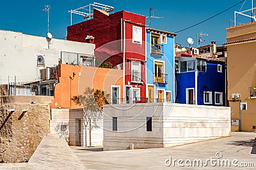
M 147 31 L 147 87 L 154 86 L 153 98 L 159 98 L 157 90 L 163 90 L 164 95 L 162 99 L 166 99 L 166 92 L 171 92 L 171 99 L 166 100 L 167 102 L 173 102 L 175 99 L 175 71 L 174 66 L 174 38 L 167 34 L 159 35 L 159 45 L 152 45 L 152 34 L 157 34 L 152 31 Z M 163 37 L 165 36 L 165 43 Z M 154 48 L 157 50 L 154 52 Z M 160 69 L 157 68 L 156 64 L 163 64 Z M 161 70 L 161 71 L 160 71 Z M 158 71 L 158 72 L 157 72 Z M 163 73 L 163 74 L 161 74 Z M 162 76 L 162 78 L 161 78 Z M 147 92 L 148 93 L 148 92 Z M 148 97 L 150 98 L 149 94 Z M 152 97 L 152 96 L 151 96 Z

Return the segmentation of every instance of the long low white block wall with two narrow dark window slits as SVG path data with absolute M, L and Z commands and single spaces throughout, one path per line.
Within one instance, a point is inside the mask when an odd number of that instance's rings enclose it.
M 113 123 L 113 117 L 115 123 Z M 152 131 L 147 131 L 152 117 Z M 163 148 L 230 136 L 230 108 L 193 104 L 104 105 L 104 150 Z M 116 125 L 117 131 L 113 131 Z

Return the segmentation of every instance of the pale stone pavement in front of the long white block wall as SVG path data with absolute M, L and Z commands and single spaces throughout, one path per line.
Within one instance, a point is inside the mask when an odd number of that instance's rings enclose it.
M 173 146 L 171 148 L 154 148 L 146 150 L 118 150 L 106 152 L 90 152 L 88 148 L 73 147 L 74 153 L 86 166 L 86 169 L 255 169 L 256 154 L 251 154 L 255 132 L 232 132 L 230 137 L 203 141 L 200 143 L 193 143 L 183 146 Z M 96 151 L 99 151 L 96 150 Z M 222 157 L 220 159 L 217 156 Z M 175 166 L 166 166 L 164 161 L 166 159 L 182 159 L 180 167 L 177 161 Z M 207 159 L 212 158 L 211 162 L 207 162 L 205 167 L 188 167 L 185 161 L 201 159 L 203 164 Z M 189 159 L 189 160 L 187 160 Z M 214 166 L 215 162 L 216 166 Z M 222 167 L 221 164 L 226 165 L 223 160 L 230 160 L 230 167 Z M 238 162 L 236 162 L 237 159 Z M 220 162 L 218 166 L 218 162 Z M 237 167 L 232 166 L 232 161 Z M 254 167 L 238 167 L 241 163 L 253 163 Z M 170 164 L 169 161 L 166 164 Z

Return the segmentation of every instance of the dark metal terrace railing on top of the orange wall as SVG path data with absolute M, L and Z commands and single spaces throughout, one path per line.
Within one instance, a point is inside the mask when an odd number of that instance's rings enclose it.
M 61 64 L 95 67 L 95 57 L 90 54 L 61 52 Z

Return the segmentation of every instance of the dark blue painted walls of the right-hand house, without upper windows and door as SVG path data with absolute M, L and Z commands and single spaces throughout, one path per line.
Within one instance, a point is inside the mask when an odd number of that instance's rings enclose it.
M 183 58 L 183 59 L 180 59 Z M 177 57 L 185 61 L 191 57 Z M 202 60 L 202 59 L 200 59 Z M 195 59 L 195 71 L 176 73 L 177 103 L 189 104 L 189 89 L 193 89 L 194 103 L 208 106 L 225 106 L 225 62 L 207 61 L 205 71 L 198 71 Z M 192 103 L 190 103 L 192 104 Z

